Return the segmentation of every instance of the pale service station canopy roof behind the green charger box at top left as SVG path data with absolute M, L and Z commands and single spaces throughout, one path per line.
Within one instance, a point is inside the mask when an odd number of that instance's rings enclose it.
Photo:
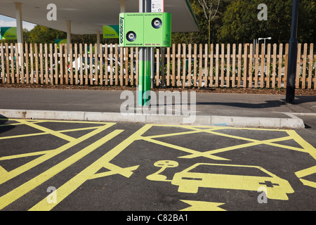
M 0 0 L 0 14 L 16 18 L 18 0 Z M 103 33 L 103 25 L 119 25 L 119 13 L 139 12 L 139 0 L 20 0 L 22 20 L 72 34 Z M 47 20 L 48 4 L 57 6 L 57 20 Z M 172 32 L 198 32 L 199 25 L 188 0 L 164 0 L 172 14 Z

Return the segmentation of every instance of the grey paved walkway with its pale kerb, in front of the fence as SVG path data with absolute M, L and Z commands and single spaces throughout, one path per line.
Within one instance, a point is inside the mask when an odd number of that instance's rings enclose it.
M 303 128 L 303 120 L 297 116 L 316 115 L 316 96 L 296 96 L 295 104 L 286 104 L 285 96 L 280 95 L 196 93 L 192 108 L 185 112 L 173 104 L 172 116 L 150 111 L 145 112 L 147 115 L 136 115 L 136 111 L 124 113 L 129 108 L 122 105 L 136 105 L 136 91 L 122 94 L 98 90 L 0 89 L 0 96 L 0 115 L 18 118 Z M 184 96 L 190 99 L 192 92 Z M 156 97 L 159 112 L 159 93 Z M 164 108 L 169 106 L 163 104 Z M 183 120 L 187 117 L 195 120 Z

